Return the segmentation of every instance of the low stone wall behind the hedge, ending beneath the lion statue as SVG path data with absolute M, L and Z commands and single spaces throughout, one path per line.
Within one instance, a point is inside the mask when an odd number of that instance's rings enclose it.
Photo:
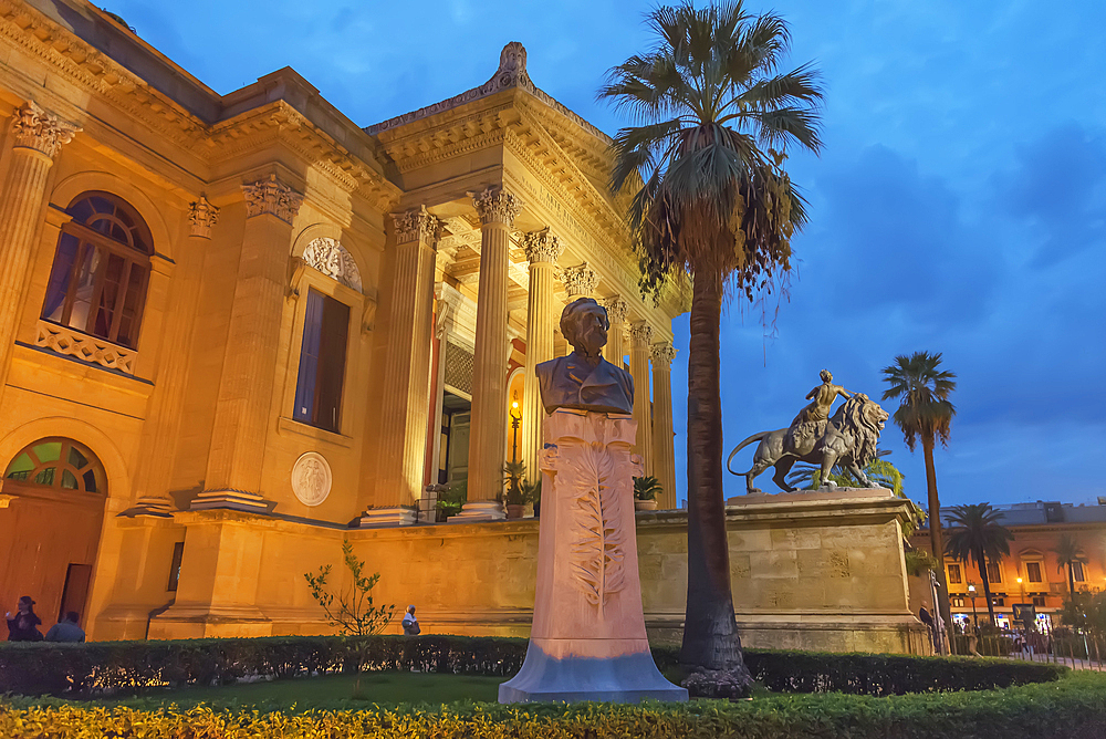
M 926 653 L 910 615 L 899 520 L 905 502 L 886 491 L 754 496 L 727 509 L 735 611 L 747 646 Z M 174 607 L 152 637 L 327 631 L 302 573 L 344 573 L 341 541 L 380 572 L 377 603 L 415 604 L 424 633 L 526 636 L 534 602 L 538 524 L 519 521 L 343 530 L 237 511 L 204 517 L 210 540 L 250 548 L 233 558 L 189 549 Z M 189 531 L 196 522 L 189 522 Z M 687 514 L 638 513 L 646 623 L 678 641 L 687 587 Z M 249 535 L 242 535 L 249 532 Z M 258 562 L 260 560 L 260 566 Z M 189 580 L 201 581 L 194 587 Z M 341 582 L 335 580 L 335 582 Z M 191 594 L 191 595 L 189 595 Z M 192 599 L 188 601 L 186 596 Z M 226 606 L 234 604 L 239 616 Z M 247 617 L 246 608 L 252 614 Z M 123 636 L 98 625 L 97 638 Z

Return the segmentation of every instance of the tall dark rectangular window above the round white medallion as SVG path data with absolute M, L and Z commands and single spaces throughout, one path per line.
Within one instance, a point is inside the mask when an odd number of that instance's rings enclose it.
M 292 417 L 327 431 L 338 431 L 345 378 L 349 306 L 307 290 Z

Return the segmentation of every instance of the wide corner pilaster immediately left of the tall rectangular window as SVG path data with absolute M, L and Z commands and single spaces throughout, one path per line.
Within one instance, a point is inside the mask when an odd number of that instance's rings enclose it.
M 281 313 L 288 293 L 292 220 L 303 196 L 275 175 L 243 185 L 242 195 L 246 228 L 211 454 L 205 491 L 192 501 L 192 509 L 269 510 L 261 496 L 261 466 L 269 436 Z

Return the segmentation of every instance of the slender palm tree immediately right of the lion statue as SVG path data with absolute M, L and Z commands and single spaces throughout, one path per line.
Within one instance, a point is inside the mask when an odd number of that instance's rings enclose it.
M 915 450 L 918 440 L 926 456 L 926 488 L 929 491 L 929 543 L 940 566 L 937 580 L 938 600 L 945 623 L 952 623 L 949 608 L 949 584 L 945 577 L 945 545 L 941 542 L 941 501 L 937 495 L 937 470 L 933 468 L 933 446 L 938 440 L 948 446 L 956 406 L 949 395 L 957 388 L 956 375 L 940 370 L 941 353 L 915 352 L 895 357 L 895 364 L 884 367 L 889 387 L 883 399 L 900 398 L 893 416 L 902 430 L 907 447 Z

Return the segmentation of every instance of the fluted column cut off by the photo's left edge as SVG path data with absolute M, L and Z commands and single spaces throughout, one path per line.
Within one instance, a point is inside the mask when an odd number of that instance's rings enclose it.
M 11 160 L 0 189 L 0 392 L 8 381 L 15 326 L 27 294 L 46 175 L 59 149 L 80 131 L 34 102 L 24 103 L 12 117 Z

